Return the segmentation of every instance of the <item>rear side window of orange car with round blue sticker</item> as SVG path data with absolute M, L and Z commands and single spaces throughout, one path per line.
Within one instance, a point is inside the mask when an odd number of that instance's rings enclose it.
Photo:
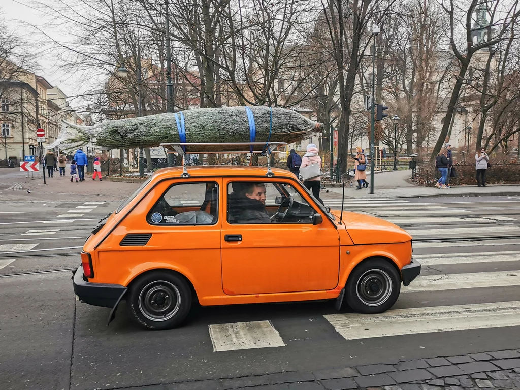
M 147 215 L 151 225 L 213 225 L 218 219 L 217 183 L 174 184 Z

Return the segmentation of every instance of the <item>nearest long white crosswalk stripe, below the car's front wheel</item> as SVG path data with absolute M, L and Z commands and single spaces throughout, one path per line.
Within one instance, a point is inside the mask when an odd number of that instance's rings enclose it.
M 346 340 L 520 325 L 520 302 L 417 307 L 323 316 Z

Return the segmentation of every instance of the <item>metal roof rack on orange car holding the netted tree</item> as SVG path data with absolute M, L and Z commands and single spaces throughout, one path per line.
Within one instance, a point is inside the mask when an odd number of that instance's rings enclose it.
M 161 144 L 162 147 L 164 147 L 167 150 L 167 153 L 178 153 L 181 155 L 183 159 L 183 173 L 180 175 L 180 177 L 187 178 L 189 177 L 188 169 L 186 167 L 186 155 L 187 154 L 262 154 L 269 156 L 271 153 L 280 153 L 279 150 L 274 150 L 275 148 L 278 148 L 280 146 L 287 146 L 287 142 L 170 142 L 168 144 Z M 237 146 L 238 149 L 240 147 L 244 146 L 263 146 L 264 148 L 262 150 L 237 150 L 237 151 L 229 151 L 229 150 L 197 150 L 197 151 L 189 151 L 185 150 L 186 147 L 189 146 L 197 146 L 197 147 L 215 147 L 215 146 Z M 272 147 L 272 148 L 271 148 Z M 203 148 L 201 148 L 203 149 Z M 225 149 L 225 148 L 223 148 Z M 267 159 L 267 177 L 272 177 L 275 174 L 271 171 L 271 163 L 269 161 L 270 159 Z

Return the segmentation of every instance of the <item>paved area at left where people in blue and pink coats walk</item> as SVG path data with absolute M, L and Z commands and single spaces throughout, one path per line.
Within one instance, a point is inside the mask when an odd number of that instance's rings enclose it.
M 68 173 L 68 172 L 67 172 Z M 57 174 L 57 175 L 56 175 Z M 0 170 L 0 201 L 71 201 L 102 200 L 119 201 L 126 199 L 141 183 L 116 183 L 109 180 L 92 180 L 92 174 L 85 174 L 85 181 L 71 183 L 70 175 L 46 178 L 43 184 L 42 172 L 34 172 L 34 178 L 27 172 L 15 168 Z M 30 190 L 31 193 L 27 193 Z

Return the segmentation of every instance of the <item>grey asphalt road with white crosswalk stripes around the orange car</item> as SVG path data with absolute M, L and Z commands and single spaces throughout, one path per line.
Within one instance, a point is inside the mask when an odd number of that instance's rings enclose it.
M 116 202 L 0 203 L 1 388 L 114 389 L 520 348 L 520 198 L 345 202 L 414 235 L 423 272 L 392 310 L 199 307 L 168 331 L 135 326 L 124 304 L 107 327 L 109 309 L 75 300 L 70 270 Z M 281 346 L 214 352 L 209 326 L 255 321 L 269 321 Z

